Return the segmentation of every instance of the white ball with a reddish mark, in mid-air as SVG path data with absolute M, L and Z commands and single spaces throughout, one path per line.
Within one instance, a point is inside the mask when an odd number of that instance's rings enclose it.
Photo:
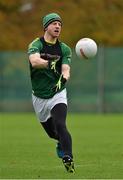
M 76 43 L 75 52 L 81 59 L 91 59 L 97 54 L 97 44 L 91 38 L 82 38 Z

